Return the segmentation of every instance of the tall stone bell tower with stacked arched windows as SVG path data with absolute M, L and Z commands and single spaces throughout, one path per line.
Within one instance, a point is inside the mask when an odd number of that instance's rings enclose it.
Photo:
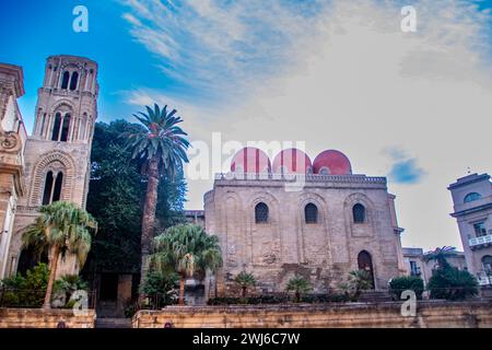
M 37 92 L 34 130 L 25 144 L 25 190 L 19 198 L 9 245 L 9 275 L 23 272 L 36 262 L 32 252 L 22 246 L 22 233 L 34 222 L 42 205 L 65 200 L 85 208 L 97 93 L 96 62 L 66 55 L 47 59 Z M 60 276 L 79 270 L 74 257 L 60 261 L 59 267 Z

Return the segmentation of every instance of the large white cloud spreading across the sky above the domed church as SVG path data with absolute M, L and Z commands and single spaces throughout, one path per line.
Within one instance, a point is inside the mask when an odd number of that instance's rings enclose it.
M 281 1 L 235 2 L 231 12 L 220 1 L 194 1 L 186 10 L 179 2 L 166 14 L 152 10 L 155 3 L 145 3 L 147 14 L 134 7 L 152 28 L 133 27 L 133 35 L 180 79 L 220 90 L 223 103 L 145 89 L 129 95 L 151 97 L 133 103 L 171 97 L 195 139 L 222 131 L 242 142 L 305 140 L 313 158 L 339 149 L 368 175 L 388 174 L 385 150 L 401 148 L 426 174 L 418 185 L 389 184 L 407 229 L 403 244 L 460 247 L 446 187 L 468 166 L 492 171 L 485 12 L 459 1 L 418 1 L 418 32 L 403 34 L 399 8 L 388 2 L 340 0 L 301 16 Z M 201 46 L 181 43 L 175 27 Z M 163 47 L 152 46 L 152 35 Z M 211 185 L 191 182 L 188 207 L 200 208 Z

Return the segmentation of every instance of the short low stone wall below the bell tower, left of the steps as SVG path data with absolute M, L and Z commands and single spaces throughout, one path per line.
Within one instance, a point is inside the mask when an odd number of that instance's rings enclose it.
M 0 308 L 0 328 L 57 328 L 60 320 L 68 328 L 94 328 L 95 313 L 74 316 L 71 310 Z

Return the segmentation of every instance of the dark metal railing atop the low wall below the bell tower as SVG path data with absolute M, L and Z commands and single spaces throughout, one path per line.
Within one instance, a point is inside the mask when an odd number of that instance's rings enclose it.
M 12 288 L 0 288 L 0 307 L 13 308 L 39 308 L 45 301 L 46 291 L 44 290 L 21 290 Z M 57 296 L 62 296 L 58 299 Z M 55 308 L 72 308 L 74 302 L 81 301 L 81 305 L 85 304 L 82 300 L 86 296 L 86 307 L 95 308 L 97 293 L 95 291 L 82 291 L 74 296 L 74 301 L 70 301 L 70 294 L 62 295 L 60 293 L 52 294 L 51 306 Z M 85 305 L 84 305 L 85 306 Z

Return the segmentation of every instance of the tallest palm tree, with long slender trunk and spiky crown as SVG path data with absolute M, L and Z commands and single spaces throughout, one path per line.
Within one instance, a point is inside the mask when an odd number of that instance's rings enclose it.
M 187 133 L 177 125 L 183 119 L 176 115 L 176 109 L 167 112 L 154 105 L 154 109 L 145 106 L 147 114 L 140 112 L 140 116 L 133 115 L 145 128 L 140 132 L 126 133 L 128 148 L 132 151 L 132 159 L 143 162 L 142 171 L 147 175 L 147 194 L 142 215 L 141 254 L 142 265 L 140 284 L 145 279 L 148 269 L 148 256 L 150 254 L 154 224 L 155 208 L 157 206 L 157 187 L 161 175 L 174 178 L 177 171 L 183 167 L 183 162 L 188 162 L 186 150 L 189 141 Z

